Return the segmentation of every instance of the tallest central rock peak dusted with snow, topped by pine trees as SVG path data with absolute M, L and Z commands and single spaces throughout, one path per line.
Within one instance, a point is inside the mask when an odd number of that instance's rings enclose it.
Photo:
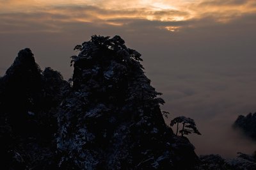
M 73 88 L 58 113 L 63 169 L 191 169 L 198 161 L 186 137 L 166 127 L 136 50 L 120 36 L 77 45 Z

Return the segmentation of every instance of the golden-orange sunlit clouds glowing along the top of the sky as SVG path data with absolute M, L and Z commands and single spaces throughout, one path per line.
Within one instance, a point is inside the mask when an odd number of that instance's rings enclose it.
M 111 26 L 124 26 L 129 19 L 182 22 L 208 18 L 225 24 L 242 15 L 256 13 L 255 2 L 236 3 L 234 0 L 119 0 L 118 3 L 115 0 L 12 0 L 0 1 L 0 8 L 0 15 L 22 13 L 37 17 L 38 22 L 58 20 L 94 23 L 97 20 L 97 24 Z M 173 32 L 178 28 L 166 26 L 164 29 Z

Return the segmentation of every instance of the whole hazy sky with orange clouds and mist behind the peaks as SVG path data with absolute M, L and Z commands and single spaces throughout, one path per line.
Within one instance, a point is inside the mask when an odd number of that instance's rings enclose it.
M 196 121 L 196 153 L 235 157 L 256 143 L 232 130 L 256 111 L 254 0 L 0 0 L 0 75 L 29 47 L 44 69 L 72 76 L 74 46 L 92 35 L 120 35 L 142 54 L 163 93 L 164 111 Z

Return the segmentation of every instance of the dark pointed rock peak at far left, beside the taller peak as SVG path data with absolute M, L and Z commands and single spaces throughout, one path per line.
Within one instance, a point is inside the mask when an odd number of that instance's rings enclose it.
M 56 109 L 69 84 L 20 50 L 0 79 L 1 169 L 55 169 Z

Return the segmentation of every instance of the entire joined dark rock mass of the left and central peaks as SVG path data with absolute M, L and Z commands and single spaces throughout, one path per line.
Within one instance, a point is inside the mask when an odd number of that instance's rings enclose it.
M 194 146 L 163 120 L 141 55 L 92 36 L 71 85 L 20 50 L 0 78 L 1 169 L 193 169 Z

